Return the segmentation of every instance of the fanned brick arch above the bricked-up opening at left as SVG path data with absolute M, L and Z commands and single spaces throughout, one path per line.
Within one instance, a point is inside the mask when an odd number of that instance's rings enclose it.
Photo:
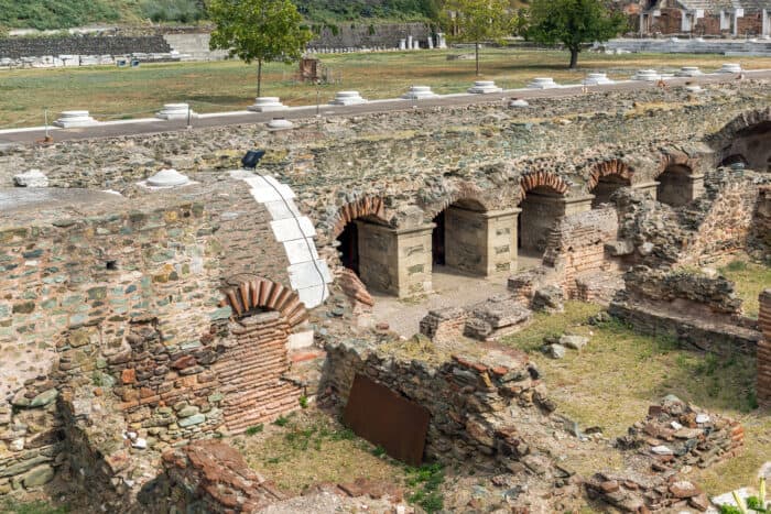
M 236 316 L 240 317 L 258 308 L 275 310 L 287 320 L 291 328 L 308 317 L 305 304 L 290 287 L 254 275 L 239 275 L 227 282 L 219 306 L 229 306 Z

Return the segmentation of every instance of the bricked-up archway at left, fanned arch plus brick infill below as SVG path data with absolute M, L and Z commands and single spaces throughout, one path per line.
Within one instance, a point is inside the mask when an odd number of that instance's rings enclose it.
M 307 311 L 281 284 L 256 276 L 230 284 L 220 305 L 230 306 L 234 316 L 211 369 L 221 384 L 225 425 L 241 433 L 298 407 L 303 391 L 283 375 L 291 368 L 289 337 Z

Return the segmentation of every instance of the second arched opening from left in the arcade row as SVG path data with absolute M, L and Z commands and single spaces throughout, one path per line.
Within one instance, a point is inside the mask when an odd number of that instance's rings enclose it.
M 434 271 L 449 269 L 486 275 L 487 209 L 477 200 L 460 199 L 434 216 L 431 254 Z

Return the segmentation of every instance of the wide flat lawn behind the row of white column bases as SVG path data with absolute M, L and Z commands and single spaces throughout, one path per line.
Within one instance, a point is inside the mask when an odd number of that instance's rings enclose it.
M 470 52 L 470 51 L 469 51 Z M 428 85 L 435 91 L 461 92 L 477 78 L 474 61 L 447 61 L 464 51 L 392 52 L 323 55 L 334 84 L 319 88 L 327 102 L 335 91 L 356 89 L 365 98 L 393 98 L 410 85 Z M 586 73 L 604 70 L 611 78 L 628 78 L 639 68 L 696 65 L 717 68 L 721 55 L 582 54 L 579 69 L 567 69 L 568 54 L 537 50 L 484 50 L 482 77 L 506 88 L 522 87 L 531 78 L 551 76 L 577 83 Z M 742 57 L 742 66 L 771 68 L 771 57 Z M 296 66 L 270 64 L 263 96 L 279 96 L 289 105 L 313 105 L 316 88 L 294 80 Z M 242 109 L 256 95 L 256 66 L 240 62 L 143 64 L 139 68 L 83 67 L 0 72 L 0 128 L 37 125 L 43 110 L 55 117 L 62 110 L 88 109 L 97 119 L 152 116 L 164 102 L 189 102 L 198 112 Z

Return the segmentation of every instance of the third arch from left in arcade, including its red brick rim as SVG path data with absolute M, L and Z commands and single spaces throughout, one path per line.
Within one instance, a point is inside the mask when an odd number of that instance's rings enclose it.
M 520 258 L 541 258 L 549 233 L 565 216 L 564 197 L 568 185 L 551 173 L 539 172 L 520 178 L 522 200 L 517 223 Z

